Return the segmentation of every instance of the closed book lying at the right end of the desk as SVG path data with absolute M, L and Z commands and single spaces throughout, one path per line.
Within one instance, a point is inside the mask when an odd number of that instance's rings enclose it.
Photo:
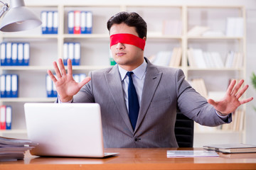
M 220 144 L 203 146 L 206 150 L 215 150 L 222 153 L 253 153 L 256 152 L 256 145 L 247 144 Z

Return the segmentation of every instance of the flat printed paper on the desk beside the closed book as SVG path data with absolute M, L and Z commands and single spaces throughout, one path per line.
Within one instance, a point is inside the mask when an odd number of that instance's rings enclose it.
M 168 150 L 167 157 L 219 157 L 215 151 L 206 150 Z

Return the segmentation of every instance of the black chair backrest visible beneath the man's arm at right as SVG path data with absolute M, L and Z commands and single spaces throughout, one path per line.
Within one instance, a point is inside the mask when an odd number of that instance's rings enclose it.
M 178 147 L 193 147 L 194 121 L 177 112 L 174 132 Z

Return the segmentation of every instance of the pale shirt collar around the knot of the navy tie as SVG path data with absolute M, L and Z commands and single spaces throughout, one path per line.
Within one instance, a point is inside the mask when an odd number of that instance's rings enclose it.
M 144 60 L 144 62 L 139 67 L 132 70 L 132 72 L 134 73 L 134 75 L 136 77 L 138 77 L 138 79 L 142 79 L 142 77 L 144 76 L 144 74 L 146 72 L 146 67 L 147 67 L 147 64 L 146 64 L 146 61 Z M 123 81 L 128 71 L 123 69 L 122 67 L 119 67 L 119 65 L 118 65 L 118 70 L 121 75 L 121 79 Z

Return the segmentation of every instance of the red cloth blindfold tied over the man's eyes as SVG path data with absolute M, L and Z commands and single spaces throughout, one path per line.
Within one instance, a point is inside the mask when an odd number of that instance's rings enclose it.
M 110 47 L 112 45 L 116 45 L 119 42 L 124 44 L 129 44 L 129 45 L 135 45 L 136 47 L 139 47 L 142 50 L 144 50 L 144 47 L 146 44 L 145 40 L 132 34 L 121 33 L 121 34 L 114 34 L 110 36 Z

